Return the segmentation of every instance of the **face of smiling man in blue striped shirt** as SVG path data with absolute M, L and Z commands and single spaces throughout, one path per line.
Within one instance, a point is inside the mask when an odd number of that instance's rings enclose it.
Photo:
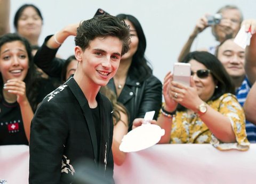
M 233 39 L 228 39 L 219 47 L 217 57 L 231 77 L 236 78 L 245 75 L 245 50 L 234 43 Z

